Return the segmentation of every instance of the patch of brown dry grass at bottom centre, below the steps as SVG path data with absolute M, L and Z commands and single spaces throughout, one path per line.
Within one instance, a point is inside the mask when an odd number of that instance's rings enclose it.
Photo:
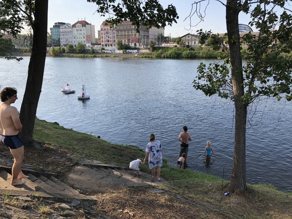
M 127 188 L 98 195 L 95 211 L 111 218 L 229 218 L 229 216 L 184 200 L 173 193 L 153 193 L 146 188 Z

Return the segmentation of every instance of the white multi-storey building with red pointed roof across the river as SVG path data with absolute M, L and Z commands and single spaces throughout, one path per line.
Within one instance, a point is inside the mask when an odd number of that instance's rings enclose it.
M 77 21 L 72 24 L 73 46 L 78 43 L 95 44 L 95 27 L 87 21 Z

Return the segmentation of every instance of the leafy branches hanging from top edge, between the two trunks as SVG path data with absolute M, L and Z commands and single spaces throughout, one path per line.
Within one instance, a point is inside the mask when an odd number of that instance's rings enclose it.
M 87 0 L 98 5 L 96 10 L 101 16 L 110 15 L 105 21 L 111 27 L 130 20 L 139 33 L 140 25 L 150 27 L 165 27 L 172 25 L 179 16 L 176 8 L 170 4 L 166 9 L 162 7 L 158 0 Z

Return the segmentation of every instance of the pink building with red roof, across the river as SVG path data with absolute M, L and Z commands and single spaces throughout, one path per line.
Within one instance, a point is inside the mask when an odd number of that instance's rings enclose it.
M 116 28 L 105 25 L 105 21 L 100 25 L 100 44 L 103 47 L 116 47 Z

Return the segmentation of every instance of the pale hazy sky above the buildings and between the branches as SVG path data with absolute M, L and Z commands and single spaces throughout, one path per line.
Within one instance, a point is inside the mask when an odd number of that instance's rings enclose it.
M 190 19 L 185 18 L 190 14 L 192 3 L 194 0 L 160 0 L 160 4 L 164 8 L 168 4 L 176 7 L 179 19 L 177 24 L 173 23 L 172 26 L 165 27 L 165 36 L 171 34 L 172 37 L 183 36 L 187 33 L 196 33 L 196 30 L 212 30 L 213 33 L 225 33 L 225 7 L 218 1 L 210 1 L 206 10 L 206 17 L 204 22 L 199 23 L 196 27 L 190 27 Z M 224 1 L 223 1 L 224 2 Z M 205 8 L 202 3 L 201 8 Z M 95 3 L 87 2 L 87 0 L 49 0 L 48 10 L 48 32 L 50 27 L 53 27 L 55 22 L 65 22 L 74 24 L 82 19 L 95 25 L 95 32 L 97 38 L 97 30 L 100 30 L 100 25 L 105 20 L 98 13 L 94 13 L 97 9 Z M 184 21 L 185 20 L 185 21 Z M 195 25 L 199 21 L 196 14 L 191 18 L 191 24 Z M 244 13 L 239 15 L 240 24 L 248 24 L 250 16 Z

